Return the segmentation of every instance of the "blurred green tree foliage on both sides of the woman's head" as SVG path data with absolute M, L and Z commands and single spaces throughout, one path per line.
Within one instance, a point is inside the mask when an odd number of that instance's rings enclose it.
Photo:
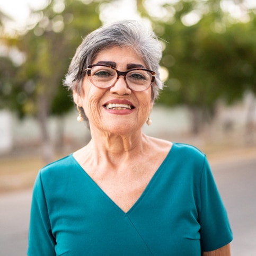
M 0 58 L 0 108 L 16 109 L 21 117 L 37 116 L 45 141 L 49 140 L 47 117 L 61 116 L 73 106 L 62 80 L 82 37 L 101 25 L 103 2 L 111 0 L 49 1 L 43 10 L 32 13 L 37 23 L 26 33 L 1 38 L 26 59 L 17 66 L 8 56 Z M 157 8 L 136 0 L 138 12 L 152 21 L 164 45 L 161 65 L 168 77 L 159 103 L 187 105 L 196 132 L 205 117 L 213 116 L 219 99 L 233 103 L 245 91 L 256 94 L 256 11 L 245 0 L 166 2 L 158 6 L 161 15 L 157 16 Z M 239 19 L 228 6 L 239 10 Z M 3 16 L 0 12 L 0 20 Z

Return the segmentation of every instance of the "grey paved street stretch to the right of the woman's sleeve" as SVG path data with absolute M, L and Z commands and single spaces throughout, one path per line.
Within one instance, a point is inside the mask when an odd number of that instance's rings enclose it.
M 231 223 L 232 256 L 256 255 L 256 156 L 212 165 Z

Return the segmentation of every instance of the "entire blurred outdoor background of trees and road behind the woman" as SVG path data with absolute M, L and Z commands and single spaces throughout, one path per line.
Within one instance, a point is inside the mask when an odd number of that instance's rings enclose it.
M 165 87 L 148 135 L 193 144 L 212 166 L 232 255 L 256 255 L 256 1 L 8 0 L 0 3 L 0 254 L 25 255 L 38 170 L 90 140 L 62 80 L 87 33 L 151 25 Z

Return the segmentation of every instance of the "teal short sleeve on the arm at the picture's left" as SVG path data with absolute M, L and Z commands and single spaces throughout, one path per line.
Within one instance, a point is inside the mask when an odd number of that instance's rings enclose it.
M 29 256 L 56 256 L 55 239 L 51 233 L 40 172 L 33 188 L 27 254 Z

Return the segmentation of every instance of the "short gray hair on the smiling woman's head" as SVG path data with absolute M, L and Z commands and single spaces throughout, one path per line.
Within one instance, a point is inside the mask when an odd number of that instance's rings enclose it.
M 101 50 L 114 46 L 131 47 L 144 60 L 146 68 L 156 73 L 154 82 L 156 86 L 152 86 L 152 100 L 154 101 L 163 88 L 159 74 L 162 47 L 154 32 L 138 21 L 114 22 L 88 34 L 77 48 L 69 65 L 68 73 L 63 81 L 64 86 L 78 94 L 82 93 L 84 69 L 92 64 Z

